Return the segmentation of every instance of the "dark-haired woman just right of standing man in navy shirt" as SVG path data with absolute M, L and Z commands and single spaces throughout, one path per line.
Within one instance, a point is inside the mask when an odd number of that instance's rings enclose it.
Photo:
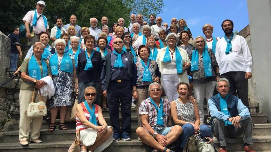
M 122 34 L 121 39 L 124 43 L 124 46 L 122 48 L 123 51 L 131 53 L 134 56 L 134 63 L 137 62 L 137 58 L 136 58 L 136 48 L 134 46 L 132 46 L 132 39 L 131 39 L 131 35 L 129 32 L 125 32 Z

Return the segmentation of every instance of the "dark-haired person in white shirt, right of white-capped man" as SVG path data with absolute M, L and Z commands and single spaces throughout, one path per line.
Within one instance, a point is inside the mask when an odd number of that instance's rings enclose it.
M 55 40 L 59 39 L 62 33 L 67 33 L 67 30 L 62 27 L 63 19 L 56 19 L 56 26 L 51 29 L 50 39 L 52 41 L 51 46 L 55 48 Z

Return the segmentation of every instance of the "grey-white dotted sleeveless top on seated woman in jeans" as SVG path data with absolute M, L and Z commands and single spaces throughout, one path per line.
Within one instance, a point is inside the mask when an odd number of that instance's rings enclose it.
M 194 105 L 191 101 L 188 103 L 180 103 L 178 99 L 175 100 L 178 119 L 187 121 L 190 123 L 195 123 L 195 112 Z

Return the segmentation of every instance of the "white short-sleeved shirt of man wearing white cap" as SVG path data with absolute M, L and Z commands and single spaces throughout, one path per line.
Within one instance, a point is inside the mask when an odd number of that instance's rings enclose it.
M 23 21 L 28 21 L 31 25 L 33 25 L 33 20 L 34 20 L 34 10 L 30 10 L 29 12 L 26 13 L 26 15 L 23 17 Z M 41 14 L 37 12 L 37 19 Z M 46 18 L 46 17 L 45 17 Z M 47 18 L 46 18 L 47 19 Z M 41 32 L 46 32 L 46 30 L 49 29 L 49 24 L 47 21 L 47 27 L 45 28 L 44 25 L 44 20 L 42 17 L 40 17 L 37 21 L 37 26 L 33 26 L 33 31 L 35 34 L 39 34 Z

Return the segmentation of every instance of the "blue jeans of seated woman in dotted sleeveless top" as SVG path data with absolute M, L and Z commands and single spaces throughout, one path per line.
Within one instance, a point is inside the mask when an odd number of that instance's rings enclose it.
M 184 148 L 187 139 L 194 134 L 194 127 L 191 123 L 186 123 L 183 126 L 183 133 L 180 135 L 180 147 Z M 212 129 L 208 125 L 200 125 L 200 136 L 204 137 L 213 137 Z

